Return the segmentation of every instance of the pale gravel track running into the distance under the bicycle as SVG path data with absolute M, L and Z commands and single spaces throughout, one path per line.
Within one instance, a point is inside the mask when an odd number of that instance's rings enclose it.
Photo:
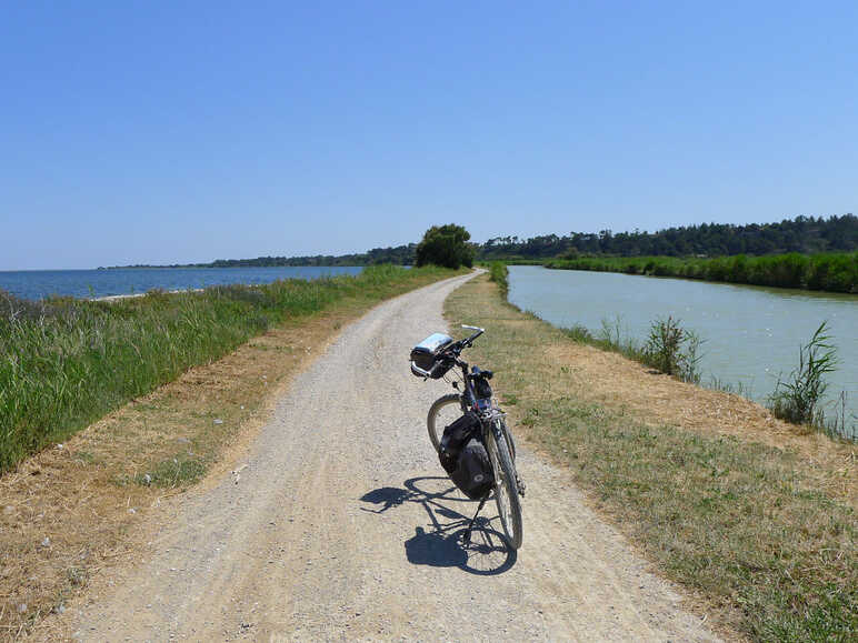
M 151 560 L 100 579 L 66 612 L 68 631 L 91 641 L 711 640 L 562 472 L 523 449 L 518 556 L 492 531 L 493 505 L 471 545 L 457 539 L 476 503 L 442 478 L 425 430 L 449 386 L 411 376 L 407 355 L 446 326 L 442 301 L 462 279 L 347 328 L 236 473 L 171 506 Z

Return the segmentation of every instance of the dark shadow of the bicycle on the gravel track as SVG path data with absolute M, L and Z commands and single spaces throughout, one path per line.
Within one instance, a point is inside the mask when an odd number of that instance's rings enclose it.
M 405 489 L 382 486 L 365 493 L 360 500 L 378 509 L 360 509 L 381 514 L 407 502 L 415 502 L 426 510 L 430 520 L 428 530 L 417 526 L 415 535 L 405 541 L 406 556 L 410 563 L 459 567 L 485 576 L 502 574 L 516 564 L 516 550 L 507 546 L 500 532 L 491 526 L 495 519 L 477 519 L 470 542 L 463 542 L 462 536 L 477 510 L 477 501 L 457 494 L 456 486 L 448 478 L 411 478 L 403 484 Z M 453 509 L 457 504 L 462 512 Z M 483 511 L 491 513 L 490 508 L 493 508 L 493 502 L 486 503 Z

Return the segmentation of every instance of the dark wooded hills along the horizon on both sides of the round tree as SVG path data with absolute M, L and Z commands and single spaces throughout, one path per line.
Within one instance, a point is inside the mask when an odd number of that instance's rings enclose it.
M 530 239 L 496 237 L 475 243 L 477 261 L 523 261 L 541 263 L 546 259 L 575 259 L 580 254 L 616 257 L 720 257 L 734 254 L 775 254 L 800 252 L 852 252 L 858 250 L 858 217 L 797 217 L 780 223 L 702 223 L 668 228 L 658 232 L 571 232 L 567 237 L 546 234 Z M 375 248 L 358 254 L 317 254 L 315 257 L 257 257 L 218 259 L 211 263 L 173 264 L 159 268 L 245 268 L 276 265 L 412 265 L 417 243 L 396 248 Z M 124 268 L 153 268 L 134 265 Z

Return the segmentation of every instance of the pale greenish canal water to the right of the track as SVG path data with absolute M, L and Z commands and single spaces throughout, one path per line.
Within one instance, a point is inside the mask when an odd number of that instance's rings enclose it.
M 829 398 L 846 391 L 847 425 L 858 423 L 858 295 L 511 265 L 509 301 L 557 326 L 580 324 L 597 335 L 603 321 L 619 323 L 623 338 L 641 343 L 655 320 L 672 315 L 705 341 L 702 382 L 717 379 L 759 402 L 798 365 L 799 346 L 827 321 L 838 355 Z

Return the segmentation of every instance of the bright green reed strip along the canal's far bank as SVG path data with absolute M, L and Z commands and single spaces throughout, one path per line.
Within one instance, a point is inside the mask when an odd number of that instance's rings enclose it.
M 684 277 L 728 283 L 858 293 L 858 252 L 810 255 L 792 252 L 766 257 L 739 254 L 715 259 L 581 257 L 547 261 L 546 268 Z

